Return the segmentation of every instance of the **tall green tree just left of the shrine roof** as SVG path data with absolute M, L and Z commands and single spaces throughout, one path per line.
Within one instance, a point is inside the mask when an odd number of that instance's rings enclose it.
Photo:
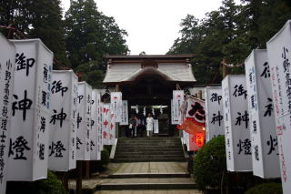
M 65 13 L 65 43 L 75 71 L 94 87 L 101 84 L 104 55 L 126 55 L 125 30 L 97 10 L 94 0 L 72 0 Z

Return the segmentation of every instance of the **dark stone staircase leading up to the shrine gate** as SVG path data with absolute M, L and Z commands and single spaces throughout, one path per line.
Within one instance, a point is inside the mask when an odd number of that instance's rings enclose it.
M 113 162 L 186 161 L 180 138 L 118 138 Z

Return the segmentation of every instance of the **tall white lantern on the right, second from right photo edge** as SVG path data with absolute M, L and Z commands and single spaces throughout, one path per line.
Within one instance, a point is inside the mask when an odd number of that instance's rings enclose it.
M 254 50 L 245 64 L 253 173 L 265 179 L 277 178 L 280 167 L 266 50 Z

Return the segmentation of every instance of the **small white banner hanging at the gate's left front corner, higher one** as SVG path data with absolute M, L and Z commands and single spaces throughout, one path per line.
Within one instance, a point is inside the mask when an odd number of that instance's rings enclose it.
M 122 115 L 122 93 L 111 92 L 110 93 L 110 110 L 111 114 L 114 114 L 115 122 L 121 122 Z

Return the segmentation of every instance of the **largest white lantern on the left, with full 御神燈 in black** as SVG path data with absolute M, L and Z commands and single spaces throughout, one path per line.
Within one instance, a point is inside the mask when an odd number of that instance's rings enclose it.
M 11 42 L 16 58 L 8 179 L 45 179 L 54 55 L 40 39 Z

